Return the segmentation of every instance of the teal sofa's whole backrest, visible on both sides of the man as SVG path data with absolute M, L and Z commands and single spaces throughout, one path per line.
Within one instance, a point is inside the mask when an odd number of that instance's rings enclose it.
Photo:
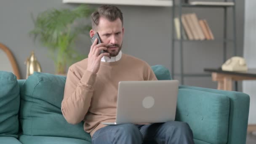
M 166 67 L 155 65 L 152 70 L 158 80 L 171 80 Z M 27 136 L 91 141 L 89 133 L 83 130 L 83 123 L 71 125 L 61 113 L 65 81 L 64 76 L 35 72 L 27 80 L 17 82 L 11 72 L 0 71 L 0 136 L 17 138 L 20 122 L 20 132 Z

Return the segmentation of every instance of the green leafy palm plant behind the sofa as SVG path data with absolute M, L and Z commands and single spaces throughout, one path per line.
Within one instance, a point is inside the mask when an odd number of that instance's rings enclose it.
M 67 66 L 85 58 L 75 51 L 75 39 L 88 34 L 91 26 L 75 22 L 88 18 L 92 11 L 87 5 L 80 5 L 73 10 L 49 9 L 39 13 L 36 19 L 32 16 L 35 27 L 29 34 L 34 40 L 39 37 L 40 43 L 48 48 L 57 74 L 65 74 Z

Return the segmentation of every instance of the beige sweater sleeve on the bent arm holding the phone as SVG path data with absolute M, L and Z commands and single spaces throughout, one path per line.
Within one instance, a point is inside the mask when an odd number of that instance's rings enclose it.
M 91 104 L 93 96 L 93 85 L 96 74 L 85 71 L 79 79 L 75 72 L 69 68 L 64 88 L 64 99 L 61 102 L 61 112 L 68 123 L 80 123 Z

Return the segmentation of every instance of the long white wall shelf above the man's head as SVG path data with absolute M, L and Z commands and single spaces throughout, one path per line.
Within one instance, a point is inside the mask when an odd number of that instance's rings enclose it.
M 109 5 L 141 5 L 171 7 L 172 0 L 62 0 L 63 3 L 87 3 Z

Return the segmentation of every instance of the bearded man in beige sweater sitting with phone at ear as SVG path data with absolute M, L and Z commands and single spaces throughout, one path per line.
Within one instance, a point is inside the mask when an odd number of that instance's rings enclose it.
M 68 123 L 82 120 L 84 130 L 91 134 L 93 144 L 193 144 L 189 125 L 182 122 L 148 125 L 103 125 L 115 122 L 118 82 L 124 80 L 157 80 L 149 64 L 121 52 L 123 14 L 115 6 L 102 5 L 92 13 L 90 36 L 98 32 L 88 59 L 69 67 L 61 104 Z M 107 53 L 100 53 L 101 50 Z

